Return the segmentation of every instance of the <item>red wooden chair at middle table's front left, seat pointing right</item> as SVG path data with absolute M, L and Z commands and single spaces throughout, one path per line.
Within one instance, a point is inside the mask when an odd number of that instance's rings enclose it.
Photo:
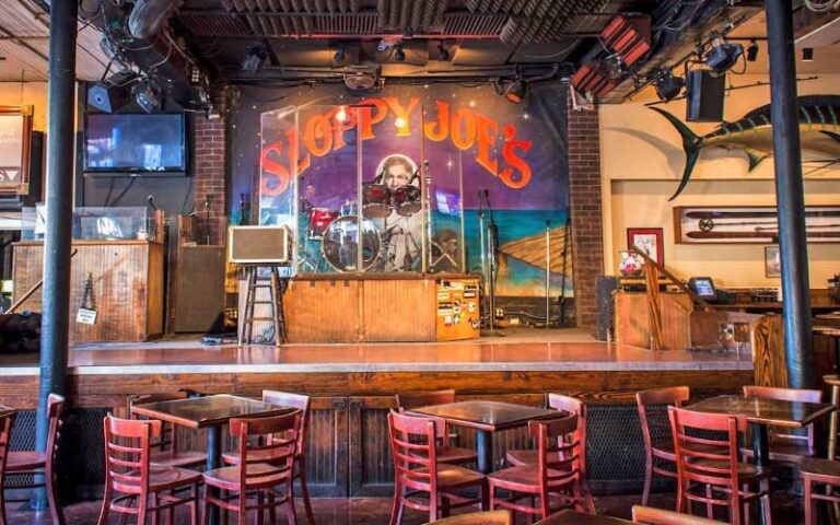
M 438 418 L 415 417 L 390 411 L 388 432 L 394 457 L 394 503 L 390 510 L 390 525 L 402 521 L 406 506 L 429 513 L 429 521 L 439 515 L 447 517 L 450 509 L 481 505 L 486 509 L 487 479 L 485 475 L 440 463 L 435 441 L 440 435 L 442 421 Z M 458 495 L 455 491 L 477 488 L 478 499 Z M 428 503 L 419 498 L 428 495 Z

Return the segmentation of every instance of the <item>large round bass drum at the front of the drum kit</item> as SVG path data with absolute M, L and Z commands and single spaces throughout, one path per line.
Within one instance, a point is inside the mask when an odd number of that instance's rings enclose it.
M 336 271 L 359 271 L 359 217 L 339 217 L 324 232 L 322 252 L 324 259 Z M 368 219 L 362 220 L 362 270 L 372 267 L 380 258 L 382 240 L 380 232 Z

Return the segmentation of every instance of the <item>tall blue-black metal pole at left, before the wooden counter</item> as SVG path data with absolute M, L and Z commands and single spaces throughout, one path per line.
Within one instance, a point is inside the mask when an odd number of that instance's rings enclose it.
M 35 447 L 46 451 L 47 397 L 66 394 L 70 324 L 70 236 L 73 214 L 75 34 L 78 2 L 52 2 L 49 10 L 49 103 L 47 121 L 47 225 L 44 241 L 44 299 L 40 382 Z M 33 494 L 46 506 L 46 491 Z

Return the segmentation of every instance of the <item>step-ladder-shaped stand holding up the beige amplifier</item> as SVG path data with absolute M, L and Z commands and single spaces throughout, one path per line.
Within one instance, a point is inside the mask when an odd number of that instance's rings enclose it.
M 259 268 L 268 268 L 270 279 L 268 282 L 257 279 Z M 250 345 L 254 332 L 254 323 L 259 320 L 271 322 L 275 330 L 275 346 L 279 347 L 285 342 L 285 318 L 283 317 L 283 294 L 289 287 L 289 279 L 280 276 L 280 269 L 277 266 L 248 265 L 245 267 L 245 280 L 247 291 L 245 294 L 245 312 L 240 316 L 242 328 L 240 329 L 238 345 Z M 257 290 L 268 289 L 268 301 L 257 301 Z M 257 304 L 267 304 L 269 316 L 255 316 L 254 311 Z

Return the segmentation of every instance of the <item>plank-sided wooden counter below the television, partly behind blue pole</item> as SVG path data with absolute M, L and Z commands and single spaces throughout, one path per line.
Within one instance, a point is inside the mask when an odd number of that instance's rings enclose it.
M 73 241 L 70 264 L 70 343 L 144 341 L 163 332 L 163 245 L 149 241 Z M 44 243 L 14 245 L 14 298 L 43 277 Z M 77 323 L 88 275 L 93 277 L 96 323 Z M 42 311 L 42 291 L 19 311 Z

